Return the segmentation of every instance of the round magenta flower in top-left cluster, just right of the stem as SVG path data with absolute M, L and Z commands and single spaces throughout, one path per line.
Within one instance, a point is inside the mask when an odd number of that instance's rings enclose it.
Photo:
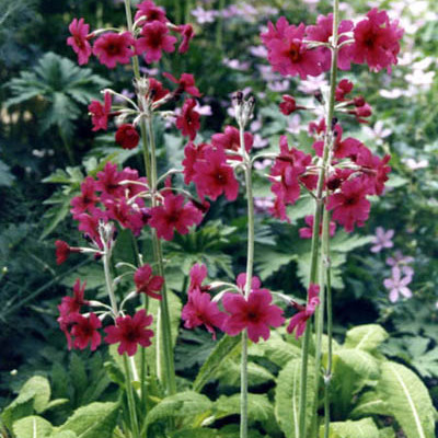
M 141 28 L 141 37 L 136 41 L 136 51 L 138 55 L 145 55 L 146 62 L 159 61 L 162 50 L 172 53 L 175 50 L 176 38 L 169 35 L 168 26 L 160 22 L 153 21 L 146 23 Z

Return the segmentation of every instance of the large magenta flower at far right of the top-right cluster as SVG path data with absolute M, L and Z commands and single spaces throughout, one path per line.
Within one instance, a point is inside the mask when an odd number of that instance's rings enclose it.
M 373 8 L 367 13 L 366 20 L 356 24 L 355 43 L 351 46 L 353 60 L 357 64 L 367 62 L 373 71 L 385 68 L 391 72 L 391 65 L 397 64 L 402 36 L 403 30 L 399 27 L 399 21 L 390 22 L 387 11 Z

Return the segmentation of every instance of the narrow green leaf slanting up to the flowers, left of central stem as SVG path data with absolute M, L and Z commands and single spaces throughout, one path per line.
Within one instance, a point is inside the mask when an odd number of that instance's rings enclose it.
M 230 357 L 230 355 L 235 354 L 235 350 L 239 348 L 240 336 L 231 337 L 224 335 L 208 356 L 207 360 L 196 376 L 196 379 L 193 383 L 194 391 L 200 392 L 211 379 L 215 379 L 222 361 Z

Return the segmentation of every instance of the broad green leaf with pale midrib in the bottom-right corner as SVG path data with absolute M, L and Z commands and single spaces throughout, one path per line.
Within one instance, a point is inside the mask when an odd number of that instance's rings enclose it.
M 434 438 L 434 406 L 422 380 L 408 368 L 392 361 L 381 366 L 377 391 L 407 438 Z

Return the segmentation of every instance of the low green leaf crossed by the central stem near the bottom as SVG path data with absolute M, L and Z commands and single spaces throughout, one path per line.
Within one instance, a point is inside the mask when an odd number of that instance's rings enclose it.
M 221 395 L 214 405 L 216 419 L 240 414 L 240 394 Z M 274 419 L 273 405 L 265 394 L 247 394 L 247 416 L 250 422 L 272 422 Z

